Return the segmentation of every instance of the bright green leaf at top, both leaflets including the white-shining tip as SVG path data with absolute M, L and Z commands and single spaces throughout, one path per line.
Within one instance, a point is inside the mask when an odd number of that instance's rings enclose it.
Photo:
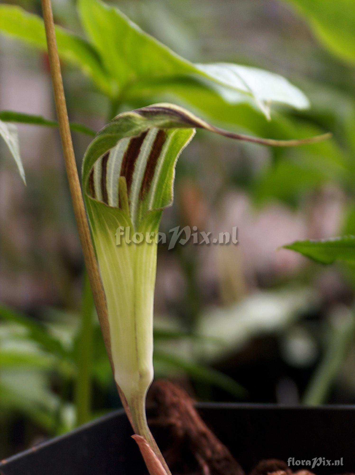
M 57 27 L 59 54 L 113 100 L 132 97 L 136 88 L 142 94 L 147 81 L 153 85 L 173 81 L 179 85 L 175 93 L 180 91 L 184 98 L 190 95 L 188 80 L 193 80 L 205 94 L 209 91 L 232 105 L 255 104 L 267 116 L 273 102 L 298 109 L 309 105 L 306 96 L 279 75 L 230 63 L 193 64 L 144 33 L 118 9 L 99 0 L 79 0 L 78 7 L 92 44 Z M 46 50 L 42 19 L 19 7 L 0 6 L 0 31 Z

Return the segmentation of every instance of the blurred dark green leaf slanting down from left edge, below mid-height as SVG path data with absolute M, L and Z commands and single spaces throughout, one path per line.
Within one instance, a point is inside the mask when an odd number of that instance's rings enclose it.
M 5 305 L 0 305 L 0 321 L 5 320 L 10 323 L 17 323 L 28 331 L 28 337 L 37 342 L 44 350 L 66 357 L 67 353 L 62 343 L 54 338 L 45 327 L 34 322 L 26 315 L 11 310 Z

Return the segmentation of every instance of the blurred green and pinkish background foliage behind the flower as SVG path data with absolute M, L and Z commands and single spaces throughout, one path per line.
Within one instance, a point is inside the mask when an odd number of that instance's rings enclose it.
M 0 3 L 40 14 L 39 0 Z M 76 2 L 53 3 L 56 22 L 83 34 Z M 280 73 L 312 104 L 307 111 L 278 107 L 268 122 L 249 104 L 223 105 L 199 89 L 177 99 L 161 85 L 114 112 L 169 99 L 264 137 L 333 133 L 327 142 L 276 150 L 200 132 L 183 153 L 161 230 L 237 226 L 240 242 L 159 247 L 156 377 L 176 379 L 203 400 L 354 403 L 353 264 L 321 266 L 280 249 L 355 234 L 352 2 L 109 3 L 191 61 Z M 71 120 L 98 130 L 112 117 L 109 99 L 65 61 L 63 73 Z M 0 85 L 0 110 L 55 118 L 44 53 L 0 36 Z M 21 124 L 19 137 L 26 187 L 0 144 L 1 457 L 119 405 L 84 279 L 58 133 Z M 80 166 L 90 138 L 73 137 Z

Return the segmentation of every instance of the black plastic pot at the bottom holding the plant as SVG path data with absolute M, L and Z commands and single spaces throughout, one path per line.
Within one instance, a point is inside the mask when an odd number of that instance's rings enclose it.
M 316 474 L 355 472 L 355 407 L 286 408 L 268 405 L 199 404 L 202 417 L 247 472 L 264 458 L 288 462 L 324 457 Z M 122 410 L 0 463 L 1 475 L 146 474 Z M 160 442 L 164 446 L 164 440 Z M 300 465 L 296 465 L 297 461 Z M 325 462 L 327 464 L 327 462 Z

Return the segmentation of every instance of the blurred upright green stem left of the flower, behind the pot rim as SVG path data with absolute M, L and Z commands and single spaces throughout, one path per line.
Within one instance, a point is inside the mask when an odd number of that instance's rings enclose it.
M 77 376 L 75 380 L 76 426 L 90 420 L 92 391 L 92 350 L 93 350 L 93 293 L 89 277 L 84 274 L 84 291 L 81 307 L 81 328 L 79 337 Z

